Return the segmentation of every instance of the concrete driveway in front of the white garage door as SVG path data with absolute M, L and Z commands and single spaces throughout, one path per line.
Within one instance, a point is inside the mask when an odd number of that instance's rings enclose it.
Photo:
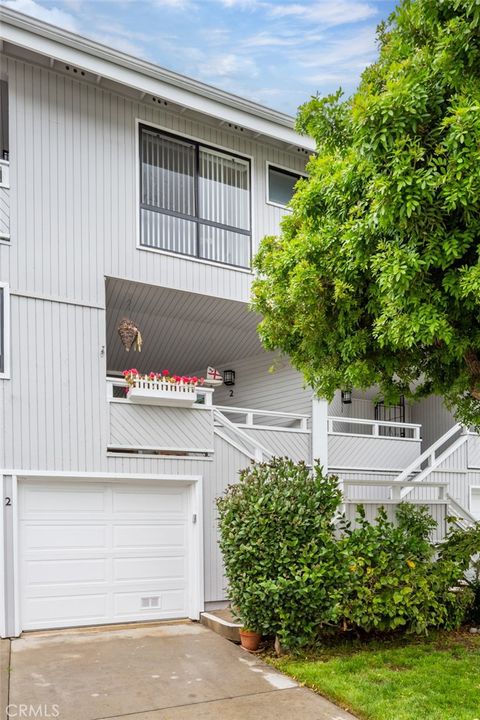
M 10 718 L 354 720 L 196 623 L 1 642 Z

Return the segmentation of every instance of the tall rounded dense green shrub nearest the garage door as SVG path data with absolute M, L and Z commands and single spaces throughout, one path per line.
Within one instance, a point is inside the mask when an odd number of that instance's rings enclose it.
M 229 596 L 246 627 L 293 645 L 336 620 L 339 503 L 335 478 L 287 459 L 251 465 L 218 499 Z

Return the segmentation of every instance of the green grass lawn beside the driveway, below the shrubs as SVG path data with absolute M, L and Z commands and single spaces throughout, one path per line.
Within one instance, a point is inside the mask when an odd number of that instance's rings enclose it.
M 351 641 L 266 658 L 365 720 L 480 720 L 480 636 Z

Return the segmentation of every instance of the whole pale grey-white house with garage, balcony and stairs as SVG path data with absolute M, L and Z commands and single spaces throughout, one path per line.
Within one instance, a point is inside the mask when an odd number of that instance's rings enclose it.
M 441 399 L 328 405 L 260 345 L 251 259 L 314 150 L 293 119 L 0 22 L 0 634 L 224 602 L 214 501 L 252 460 L 320 458 L 346 510 L 409 495 L 440 524 L 479 515 L 479 438 Z M 125 394 L 126 369 L 207 366 L 224 384 Z

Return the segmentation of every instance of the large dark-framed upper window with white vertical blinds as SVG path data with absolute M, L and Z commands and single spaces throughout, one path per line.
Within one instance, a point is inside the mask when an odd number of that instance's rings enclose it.
M 250 162 L 140 127 L 140 244 L 249 267 Z

